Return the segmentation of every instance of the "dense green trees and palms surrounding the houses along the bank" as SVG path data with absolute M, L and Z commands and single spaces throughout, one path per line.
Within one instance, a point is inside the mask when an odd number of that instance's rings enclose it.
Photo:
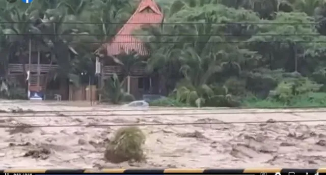
M 81 81 L 80 72 L 94 73 L 94 50 L 115 35 L 138 4 L 126 0 L 0 3 L 0 20 L 11 22 L 1 23 L 1 32 L 5 34 L 1 35 L 1 70 L 6 70 L 10 53 L 26 54 L 28 40 L 33 37 L 55 53 L 53 59 L 60 66 L 56 77 L 68 77 L 73 82 Z M 162 84 L 166 84 L 162 93 L 169 94 L 168 99 L 154 104 L 326 104 L 324 1 L 157 3 L 165 14 L 161 26 L 144 26 L 135 31 L 152 53 L 147 71 L 160 75 L 165 82 Z M 67 23 L 71 21 L 83 23 Z M 62 59 L 69 47 L 78 55 L 75 59 Z

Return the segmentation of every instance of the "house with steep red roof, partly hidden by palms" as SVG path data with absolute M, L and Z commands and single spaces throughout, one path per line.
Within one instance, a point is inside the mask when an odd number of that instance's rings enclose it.
M 132 34 L 143 25 L 160 24 L 163 19 L 164 16 L 154 0 L 141 0 L 137 10 L 135 10 L 112 41 L 104 44 L 99 49 L 105 55 L 100 59 L 102 81 L 114 73 L 117 75 L 123 73 L 122 66 L 115 64 L 110 59 L 111 56 L 122 53 L 129 54 L 133 51 L 137 52 L 145 60 L 149 57 L 149 50 L 145 47 L 144 43 Z M 98 52 L 100 52 L 99 50 Z M 135 66 L 130 72 L 131 74 L 128 76 L 126 83 L 127 92 L 137 99 L 141 99 L 143 94 L 158 93 L 158 77 L 146 74 L 145 66 Z

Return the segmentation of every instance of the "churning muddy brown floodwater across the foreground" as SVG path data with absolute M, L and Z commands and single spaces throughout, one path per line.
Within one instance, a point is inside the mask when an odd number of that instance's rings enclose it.
M 0 101 L 0 109 L 60 110 L 21 117 L 0 113 L 0 125 L 87 125 L 132 123 L 254 122 L 267 120 L 323 120 L 325 112 L 246 113 L 271 109 L 216 109 L 198 115 L 185 111 L 143 110 L 99 112 L 119 106 L 90 103 Z M 65 113 L 65 110 L 76 112 Z M 90 110 L 90 112 L 77 112 Z M 293 109 L 294 110 L 294 109 Z M 325 110 L 326 109 L 320 109 Z M 236 114 L 216 114 L 219 112 Z M 276 111 L 276 110 L 274 110 Z M 289 110 L 287 110 L 289 111 Z M 105 114 L 111 114 L 105 116 Z M 114 116 L 112 114 L 119 114 Z M 141 115 L 146 113 L 146 115 Z M 160 115 L 171 113 L 171 115 Z M 193 113 L 184 115 L 183 113 Z M 31 115 L 33 113 L 29 113 Z M 87 115 L 89 116 L 69 116 Z M 92 116 L 103 114 L 103 116 Z M 129 114 L 123 116 L 123 114 Z M 134 114 L 134 115 L 130 115 Z M 52 115 L 52 116 L 50 116 Z M 4 168 L 316 168 L 326 164 L 326 123 L 210 124 L 142 126 L 147 135 L 147 162 L 120 164 L 103 159 L 105 140 L 118 127 L 0 128 L 0 169 Z

